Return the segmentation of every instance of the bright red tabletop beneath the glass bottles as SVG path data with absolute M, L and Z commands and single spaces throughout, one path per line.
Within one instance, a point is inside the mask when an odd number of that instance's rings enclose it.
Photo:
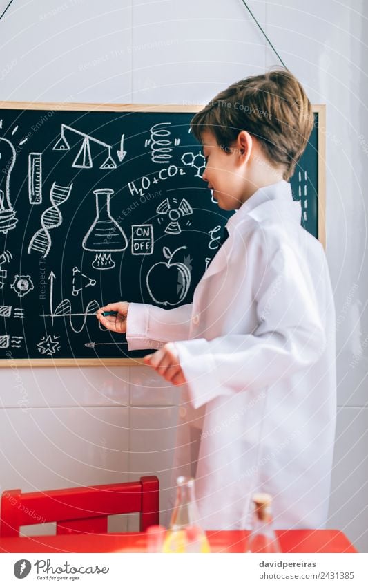
M 212 552 L 244 552 L 245 530 L 207 532 Z M 282 552 L 357 552 L 339 530 L 278 530 Z M 68 534 L 1 538 L 0 552 L 145 552 L 146 534 Z

